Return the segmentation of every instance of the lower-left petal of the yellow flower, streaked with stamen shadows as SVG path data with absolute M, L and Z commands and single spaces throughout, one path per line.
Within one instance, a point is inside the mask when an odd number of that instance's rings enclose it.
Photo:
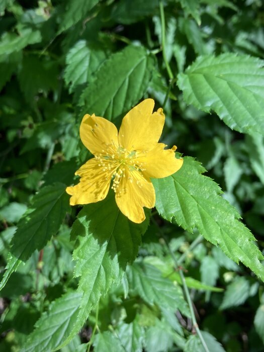
M 96 158 L 85 162 L 75 174 L 81 179 L 76 186 L 66 188 L 66 192 L 72 196 L 70 205 L 96 203 L 106 198 L 112 174 L 103 171 Z

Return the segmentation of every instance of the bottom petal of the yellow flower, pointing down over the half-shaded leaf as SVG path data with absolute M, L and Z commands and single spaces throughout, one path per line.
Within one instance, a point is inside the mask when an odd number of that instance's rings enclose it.
M 141 223 L 145 220 L 143 207 L 153 208 L 155 191 L 149 179 L 127 167 L 116 192 L 116 202 L 121 212 L 131 221 Z

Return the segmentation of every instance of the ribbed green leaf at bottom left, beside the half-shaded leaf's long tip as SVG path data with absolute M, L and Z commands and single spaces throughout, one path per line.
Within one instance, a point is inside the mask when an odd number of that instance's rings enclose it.
M 28 336 L 21 352 L 54 350 L 67 336 L 78 314 L 81 294 L 67 292 L 53 301 L 47 312 L 37 321 L 35 330 Z

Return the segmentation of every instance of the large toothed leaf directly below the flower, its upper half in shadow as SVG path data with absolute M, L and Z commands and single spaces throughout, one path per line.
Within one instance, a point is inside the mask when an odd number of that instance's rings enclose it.
M 86 205 L 72 226 L 76 238 L 73 259 L 78 292 L 83 293 L 78 317 L 65 345 L 82 327 L 91 309 L 113 283 L 121 280 L 128 262 L 133 262 L 148 220 L 135 224 L 118 209 L 114 192 L 98 203 Z

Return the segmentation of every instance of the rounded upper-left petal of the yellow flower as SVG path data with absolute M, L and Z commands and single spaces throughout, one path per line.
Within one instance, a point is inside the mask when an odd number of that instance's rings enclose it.
M 80 139 L 93 154 L 115 152 L 118 148 L 116 126 L 103 117 L 86 114 L 80 124 Z M 103 152 L 102 152 L 103 151 Z

